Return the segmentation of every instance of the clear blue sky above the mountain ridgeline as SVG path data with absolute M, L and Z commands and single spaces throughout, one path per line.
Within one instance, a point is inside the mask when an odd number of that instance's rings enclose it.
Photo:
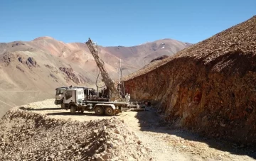
M 256 0 L 0 0 L 0 42 L 50 36 L 65 43 L 198 43 L 256 15 Z

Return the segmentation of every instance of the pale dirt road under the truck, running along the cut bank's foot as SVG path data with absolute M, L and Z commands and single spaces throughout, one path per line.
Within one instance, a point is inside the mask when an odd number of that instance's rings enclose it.
M 23 106 L 36 113 L 49 117 L 90 121 L 108 116 L 95 116 L 93 113 L 70 115 L 70 111 L 60 109 L 53 104 L 53 99 Z M 151 111 L 123 112 L 115 116 L 124 120 L 130 130 L 136 133 L 142 143 L 150 148 L 154 160 L 255 160 L 256 154 L 249 148 L 226 143 L 225 141 L 208 139 L 199 135 L 171 128 L 163 123 L 154 109 Z

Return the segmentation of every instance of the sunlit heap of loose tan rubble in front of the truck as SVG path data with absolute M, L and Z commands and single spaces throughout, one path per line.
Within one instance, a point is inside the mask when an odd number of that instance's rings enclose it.
M 0 120 L 0 160 L 150 160 L 118 118 L 65 121 L 11 109 Z

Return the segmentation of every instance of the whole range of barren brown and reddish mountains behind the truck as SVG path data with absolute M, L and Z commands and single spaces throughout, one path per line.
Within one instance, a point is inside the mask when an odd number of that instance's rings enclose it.
M 110 77 L 116 79 L 119 58 L 126 75 L 158 55 L 172 55 L 189 45 L 168 39 L 133 47 L 99 46 L 99 51 Z M 1 117 L 10 107 L 53 98 L 56 87 L 94 86 L 96 64 L 85 43 L 41 37 L 28 42 L 0 43 L 0 75 Z

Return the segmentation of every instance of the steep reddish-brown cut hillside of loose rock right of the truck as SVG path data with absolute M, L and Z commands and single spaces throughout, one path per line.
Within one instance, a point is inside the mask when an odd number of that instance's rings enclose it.
M 152 62 L 125 85 L 133 99 L 154 101 L 176 126 L 256 143 L 256 16 Z

